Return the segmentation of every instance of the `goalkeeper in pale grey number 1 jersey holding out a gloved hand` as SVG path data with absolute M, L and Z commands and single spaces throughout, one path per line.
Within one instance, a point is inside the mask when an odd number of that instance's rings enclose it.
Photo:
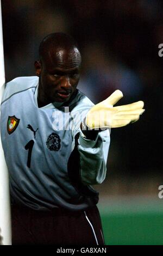
M 40 44 L 36 76 L 7 83 L 1 137 L 9 169 L 12 245 L 104 245 L 96 204 L 109 129 L 137 121 L 143 102 L 93 103 L 77 89 L 81 56 L 63 33 Z M 62 127 L 58 124 L 62 120 Z

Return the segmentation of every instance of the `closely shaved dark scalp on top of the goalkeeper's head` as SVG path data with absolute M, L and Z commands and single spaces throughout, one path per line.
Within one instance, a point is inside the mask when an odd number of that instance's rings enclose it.
M 74 49 L 79 52 L 77 42 L 74 41 L 72 36 L 64 33 L 53 33 L 43 38 L 39 47 L 39 57 L 41 62 L 43 62 L 43 60 L 52 55 L 53 51 L 72 51 Z

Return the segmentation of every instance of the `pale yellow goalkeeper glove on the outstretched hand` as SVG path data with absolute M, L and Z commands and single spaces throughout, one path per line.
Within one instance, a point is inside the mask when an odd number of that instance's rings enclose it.
M 134 123 L 145 111 L 144 102 L 137 101 L 128 105 L 113 107 L 123 97 L 116 90 L 106 100 L 93 106 L 86 115 L 86 125 L 90 129 L 116 128 Z

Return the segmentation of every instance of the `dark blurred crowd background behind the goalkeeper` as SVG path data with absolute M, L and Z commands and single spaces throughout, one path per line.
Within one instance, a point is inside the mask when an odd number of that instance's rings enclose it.
M 2 0 L 6 81 L 35 75 L 45 35 L 71 34 L 83 58 L 79 89 L 94 103 L 116 89 L 118 104 L 145 101 L 137 123 L 112 129 L 108 173 L 161 177 L 162 13 L 158 0 Z

